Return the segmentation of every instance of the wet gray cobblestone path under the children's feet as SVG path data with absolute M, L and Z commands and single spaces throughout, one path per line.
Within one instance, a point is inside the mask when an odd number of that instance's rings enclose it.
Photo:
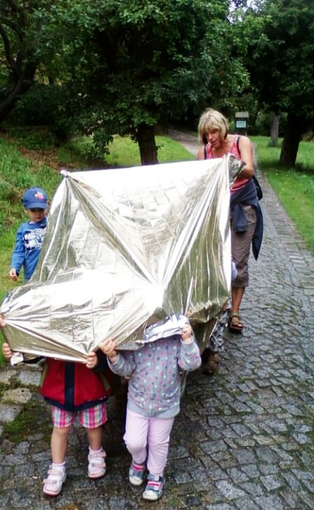
M 127 483 L 124 412 L 115 397 L 103 434 L 106 476 L 87 478 L 86 436 L 76 427 L 63 491 L 46 499 L 41 480 L 50 459 L 48 407 L 36 390 L 39 369 L 18 366 L 0 372 L 0 383 L 8 388 L 0 404 L 0 508 L 314 508 L 314 257 L 266 178 L 259 180 L 265 234 L 258 262 L 250 261 L 244 333 L 226 333 L 216 376 L 201 369 L 188 376 L 162 499 L 143 502 L 140 489 Z M 34 409 L 34 423 L 16 442 L 6 434 L 6 423 L 20 418 L 23 407 Z

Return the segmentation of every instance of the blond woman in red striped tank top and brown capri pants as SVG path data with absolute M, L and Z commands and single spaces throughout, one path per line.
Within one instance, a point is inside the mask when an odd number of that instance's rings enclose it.
M 199 148 L 197 159 L 222 158 L 231 153 L 244 163 L 242 171 L 230 190 L 231 251 L 237 267 L 237 277 L 232 282 L 230 331 L 241 333 L 243 323 L 240 305 L 249 284 L 249 250 L 255 259 L 259 255 L 263 236 L 263 217 L 256 196 L 253 165 L 253 146 L 247 136 L 230 134 L 228 122 L 218 111 L 208 108 L 199 119 Z

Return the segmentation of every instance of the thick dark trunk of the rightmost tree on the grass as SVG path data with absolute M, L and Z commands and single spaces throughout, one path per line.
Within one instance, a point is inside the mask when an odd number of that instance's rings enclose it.
M 279 159 L 281 165 L 294 167 L 296 164 L 296 155 L 298 154 L 302 129 L 303 123 L 301 119 L 289 113 Z

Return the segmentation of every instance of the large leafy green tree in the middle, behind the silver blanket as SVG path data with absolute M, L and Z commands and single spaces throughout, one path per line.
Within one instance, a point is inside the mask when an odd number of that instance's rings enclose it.
M 102 152 L 112 134 L 131 134 L 141 162 L 155 163 L 156 125 L 222 98 L 228 106 L 247 83 L 227 0 L 60 0 L 49 30 L 60 26 L 63 87 Z

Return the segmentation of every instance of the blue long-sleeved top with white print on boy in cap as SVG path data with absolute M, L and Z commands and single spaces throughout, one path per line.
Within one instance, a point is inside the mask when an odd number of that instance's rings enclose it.
M 30 279 L 37 266 L 46 234 L 46 223 L 47 220 L 44 218 L 41 222 L 25 222 L 18 227 L 11 267 L 14 267 L 18 274 L 20 274 L 20 269 L 23 267 L 25 280 Z

